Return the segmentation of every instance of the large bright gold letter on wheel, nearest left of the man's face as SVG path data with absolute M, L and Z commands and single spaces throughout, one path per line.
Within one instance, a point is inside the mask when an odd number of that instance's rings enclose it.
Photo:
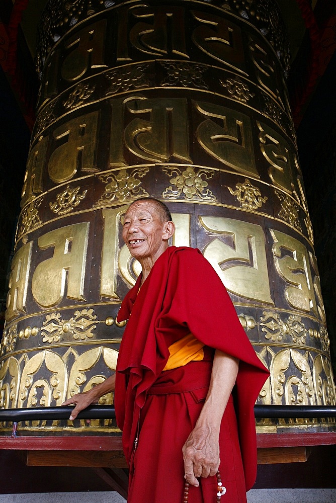
M 67 298 L 85 300 L 83 289 L 88 237 L 89 222 L 67 225 L 39 237 L 41 249 L 55 248 L 51 259 L 41 262 L 33 275 L 32 293 L 40 306 L 52 307 L 62 300 L 66 278 Z

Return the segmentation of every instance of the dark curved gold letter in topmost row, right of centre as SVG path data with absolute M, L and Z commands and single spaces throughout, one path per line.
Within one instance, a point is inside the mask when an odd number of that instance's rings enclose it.
M 202 23 L 194 29 L 192 40 L 201 51 L 245 73 L 244 48 L 240 28 L 225 18 L 205 12 L 192 12 L 194 18 Z

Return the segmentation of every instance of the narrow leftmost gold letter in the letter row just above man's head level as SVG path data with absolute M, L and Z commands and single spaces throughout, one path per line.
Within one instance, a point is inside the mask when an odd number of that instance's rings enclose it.
M 46 159 L 49 136 L 41 139 L 32 147 L 27 160 L 27 171 L 22 189 L 21 207 L 43 192 L 43 167 Z

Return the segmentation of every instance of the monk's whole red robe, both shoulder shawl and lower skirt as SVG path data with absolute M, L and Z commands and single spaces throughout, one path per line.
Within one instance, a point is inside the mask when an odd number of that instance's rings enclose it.
M 219 469 L 227 489 L 222 503 L 243 503 L 257 473 L 253 406 L 268 371 L 199 250 L 167 248 L 139 290 L 140 282 L 141 275 L 118 313 L 118 321 L 129 318 L 115 389 L 117 424 L 130 468 L 128 502 L 183 500 L 182 447 L 207 394 L 214 348 L 240 360 L 235 411 L 231 399 L 221 425 Z M 190 332 L 205 345 L 203 361 L 163 371 L 168 348 Z M 189 494 L 191 503 L 212 503 L 216 477 L 201 478 L 200 487 L 191 487 Z

